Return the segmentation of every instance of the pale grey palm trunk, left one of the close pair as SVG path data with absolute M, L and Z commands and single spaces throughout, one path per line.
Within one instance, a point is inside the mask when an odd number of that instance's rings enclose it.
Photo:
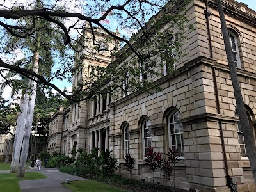
M 28 84 L 29 86 L 29 84 Z M 13 147 L 13 158 L 12 158 L 12 164 L 11 164 L 11 170 L 12 173 L 18 172 L 19 167 L 19 160 L 20 160 L 20 151 L 22 147 L 22 141 L 24 136 L 24 129 L 26 124 L 26 116 L 28 113 L 28 90 L 26 90 L 26 93 L 24 94 L 24 97 L 22 98 L 22 101 L 20 102 L 20 109 L 21 112 L 18 115 L 17 119 L 17 128 L 15 132 L 15 147 Z

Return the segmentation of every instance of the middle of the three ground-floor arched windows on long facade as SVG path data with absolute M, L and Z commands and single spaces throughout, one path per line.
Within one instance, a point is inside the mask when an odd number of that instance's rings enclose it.
M 144 120 L 142 124 L 142 138 L 143 138 L 143 155 L 148 152 L 148 148 L 151 147 L 151 131 L 148 128 L 150 125 L 150 120 Z

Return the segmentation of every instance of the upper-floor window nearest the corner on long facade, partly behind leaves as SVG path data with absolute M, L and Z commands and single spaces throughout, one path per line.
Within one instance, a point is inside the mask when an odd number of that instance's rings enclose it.
M 164 76 L 170 74 L 172 69 L 175 69 L 175 49 L 173 48 L 175 41 L 175 36 L 172 36 L 168 39 L 166 47 L 166 62 L 164 63 Z

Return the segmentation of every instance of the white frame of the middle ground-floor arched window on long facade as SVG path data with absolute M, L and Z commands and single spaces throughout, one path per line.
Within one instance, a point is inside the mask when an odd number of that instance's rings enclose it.
M 150 126 L 150 120 L 149 118 L 145 118 L 145 120 L 143 120 L 143 123 L 141 124 L 141 138 L 142 138 L 142 152 L 143 152 L 143 158 L 144 157 L 144 154 L 148 152 L 148 148 L 152 147 L 152 136 L 151 136 L 151 129 L 148 128 Z M 146 132 L 148 133 L 149 131 L 149 134 L 150 136 L 145 136 L 145 130 L 146 129 Z M 150 146 L 148 145 L 148 141 L 150 140 Z M 146 141 L 147 141 L 147 147 L 146 147 Z

